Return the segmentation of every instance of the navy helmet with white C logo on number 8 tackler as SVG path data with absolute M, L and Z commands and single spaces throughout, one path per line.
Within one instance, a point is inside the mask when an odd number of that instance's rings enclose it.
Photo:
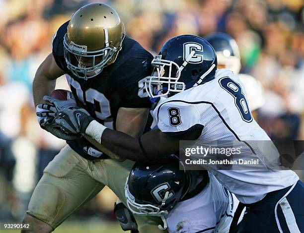
M 205 39 L 182 35 L 169 39 L 152 60 L 152 65 L 157 72 L 146 78 L 145 86 L 149 96 L 157 98 L 214 79 L 217 58 L 214 49 Z

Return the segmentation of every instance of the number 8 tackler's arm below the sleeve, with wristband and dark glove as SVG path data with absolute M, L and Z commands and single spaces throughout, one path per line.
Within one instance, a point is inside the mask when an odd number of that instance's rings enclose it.
M 199 135 L 194 130 L 186 133 L 183 137 L 175 138 L 156 129 L 139 138 L 134 138 L 124 132 L 105 127 L 91 117 L 85 109 L 81 108 L 63 109 L 57 112 L 55 122 L 63 131 L 77 131 L 86 134 L 108 151 L 124 159 L 138 162 L 175 153 L 179 149 L 179 139 L 191 140 L 196 139 Z

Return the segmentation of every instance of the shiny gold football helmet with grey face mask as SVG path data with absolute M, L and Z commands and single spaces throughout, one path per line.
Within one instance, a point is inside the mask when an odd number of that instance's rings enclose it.
M 98 75 L 121 49 L 124 26 L 118 13 L 104 3 L 82 6 L 73 15 L 64 37 L 68 68 L 78 78 Z

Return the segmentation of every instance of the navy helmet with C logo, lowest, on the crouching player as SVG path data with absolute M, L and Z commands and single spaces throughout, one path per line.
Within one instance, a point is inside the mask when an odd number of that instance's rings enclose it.
M 133 214 L 163 217 L 189 187 L 190 175 L 174 155 L 136 163 L 125 185 L 127 205 Z

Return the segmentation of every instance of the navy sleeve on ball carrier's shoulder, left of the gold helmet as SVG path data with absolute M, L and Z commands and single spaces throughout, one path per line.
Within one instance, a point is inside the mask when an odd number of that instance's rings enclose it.
M 55 61 L 57 65 L 65 70 L 66 69 L 66 61 L 64 58 L 64 36 L 67 33 L 67 27 L 68 27 L 69 21 L 65 22 L 61 27 L 57 30 L 57 32 L 54 34 L 52 39 L 52 53 L 53 57 L 55 58 Z

